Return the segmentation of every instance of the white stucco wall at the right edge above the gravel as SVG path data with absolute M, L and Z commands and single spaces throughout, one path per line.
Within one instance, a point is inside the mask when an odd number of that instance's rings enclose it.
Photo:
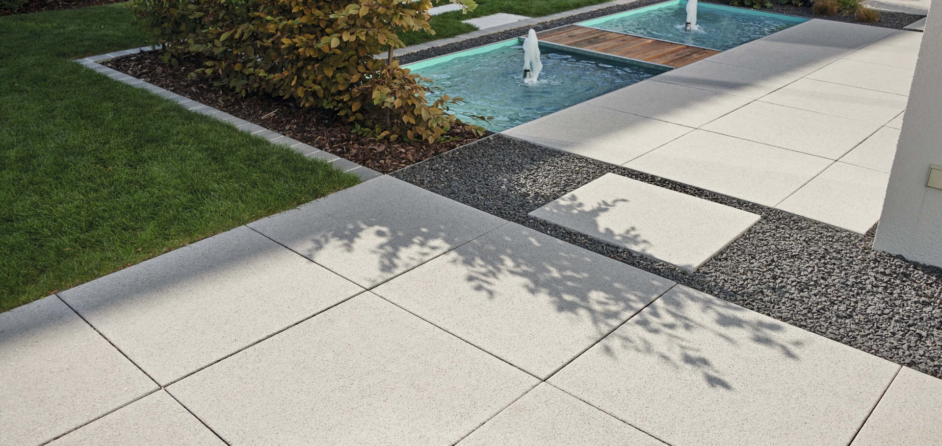
M 932 3 L 942 11 L 942 0 Z M 873 248 L 942 266 L 942 190 L 926 187 L 930 165 L 942 166 L 940 14 L 926 21 Z

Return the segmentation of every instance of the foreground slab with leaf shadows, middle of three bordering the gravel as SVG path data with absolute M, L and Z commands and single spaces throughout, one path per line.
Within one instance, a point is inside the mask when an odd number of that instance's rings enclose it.
M 672 285 L 508 223 L 375 292 L 545 378 Z

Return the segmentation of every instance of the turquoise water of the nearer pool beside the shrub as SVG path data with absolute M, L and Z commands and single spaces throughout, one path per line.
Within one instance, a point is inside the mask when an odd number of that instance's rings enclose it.
M 515 40 L 406 65 L 435 81 L 442 94 L 464 98 L 451 111 L 465 122 L 500 132 L 641 82 L 663 70 L 541 47 L 539 83 L 523 82 L 524 51 Z M 432 95 L 432 99 L 437 95 Z M 493 116 L 490 122 L 468 119 Z

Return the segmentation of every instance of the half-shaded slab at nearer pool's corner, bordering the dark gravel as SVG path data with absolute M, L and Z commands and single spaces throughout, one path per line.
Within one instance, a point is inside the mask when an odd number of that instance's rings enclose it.
M 691 130 L 592 104 L 577 104 L 502 133 L 622 165 Z

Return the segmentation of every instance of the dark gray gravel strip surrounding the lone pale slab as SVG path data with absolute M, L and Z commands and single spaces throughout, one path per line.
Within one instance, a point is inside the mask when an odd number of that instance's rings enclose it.
M 695 273 L 528 216 L 607 172 L 761 215 Z M 870 249 L 874 230 L 798 215 L 493 135 L 392 174 L 450 199 L 942 377 L 942 270 Z

